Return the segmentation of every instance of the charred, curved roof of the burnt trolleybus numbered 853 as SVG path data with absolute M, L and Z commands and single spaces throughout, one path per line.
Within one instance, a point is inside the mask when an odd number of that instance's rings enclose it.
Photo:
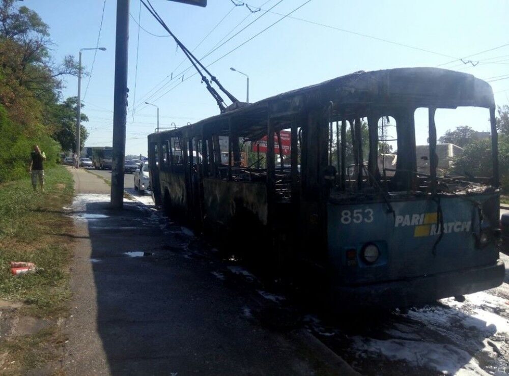
M 395 68 L 336 77 L 159 133 L 228 135 L 230 120 L 234 120 L 232 126 L 239 136 L 256 139 L 264 135 L 269 114 L 285 123 L 306 110 L 325 110 L 330 102 L 331 121 L 364 117 L 371 110 L 390 115 L 392 108 L 495 105 L 491 86 L 471 74 L 441 68 Z

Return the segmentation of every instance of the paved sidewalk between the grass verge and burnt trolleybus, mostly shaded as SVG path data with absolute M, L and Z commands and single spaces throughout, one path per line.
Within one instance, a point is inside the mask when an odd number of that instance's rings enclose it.
M 194 238 L 180 226 L 139 203 L 110 210 L 109 187 L 86 171 L 72 172 L 67 374 L 349 373 L 305 340 L 263 327 L 248 294 L 222 280 L 219 262 L 189 252 Z

